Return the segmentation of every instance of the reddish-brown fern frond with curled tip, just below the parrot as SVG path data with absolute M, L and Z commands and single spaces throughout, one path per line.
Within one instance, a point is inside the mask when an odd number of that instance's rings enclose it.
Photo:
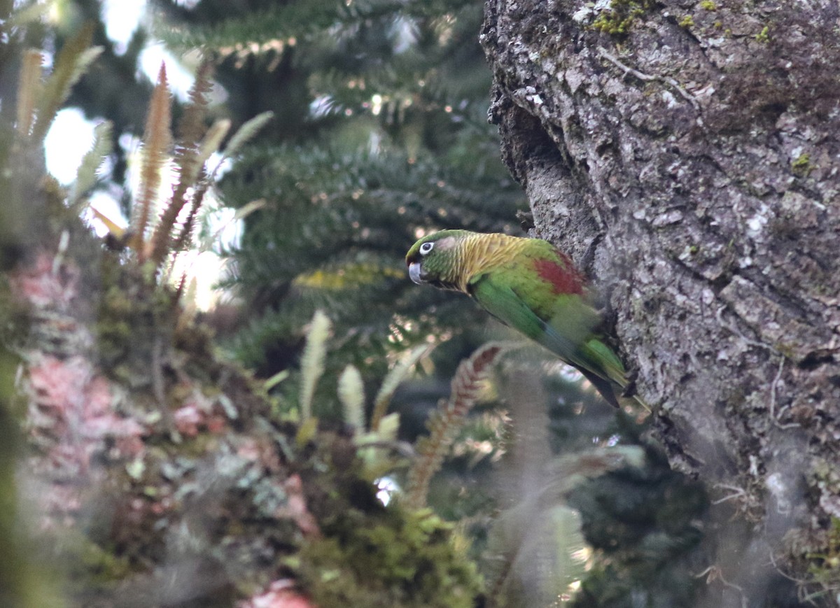
M 408 472 L 406 504 L 409 508 L 425 506 L 428 484 L 443 464 L 455 433 L 478 400 L 481 381 L 486 378 L 488 369 L 501 350 L 497 343 L 485 344 L 469 359 L 462 361 L 455 371 L 449 401 L 429 417 L 428 437 L 417 441 L 417 459 Z

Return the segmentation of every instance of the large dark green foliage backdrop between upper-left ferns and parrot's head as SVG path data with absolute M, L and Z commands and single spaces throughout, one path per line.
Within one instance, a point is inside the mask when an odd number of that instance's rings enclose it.
M 486 123 L 480 3 L 158 5 L 177 44 L 217 48 L 218 80 L 242 92 L 234 125 L 276 113 L 221 184 L 232 207 L 260 202 L 228 252 L 244 364 L 295 375 L 301 328 L 322 309 L 336 338 L 324 375 L 352 364 L 375 385 L 387 357 L 480 323 L 468 302 L 417 290 L 403 262 L 418 230 L 509 230 L 524 204 Z M 319 416 L 338 409 L 330 384 L 313 396 Z M 277 390 L 293 402 L 297 386 Z

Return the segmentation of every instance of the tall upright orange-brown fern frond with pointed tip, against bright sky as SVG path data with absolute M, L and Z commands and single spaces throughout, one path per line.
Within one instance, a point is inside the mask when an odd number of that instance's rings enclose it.
M 155 198 L 160 191 L 160 170 L 167 160 L 172 140 L 171 96 L 166 82 L 166 66 L 160 64 L 158 81 L 149 101 L 149 115 L 143 135 L 143 162 L 140 167 L 139 194 L 134 200 L 131 221 L 132 238 L 129 246 L 137 252 L 143 262 L 150 252 L 145 249 L 145 232 Z

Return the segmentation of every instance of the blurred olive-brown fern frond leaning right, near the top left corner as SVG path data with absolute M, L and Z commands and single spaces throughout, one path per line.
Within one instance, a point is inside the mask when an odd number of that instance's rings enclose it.
M 70 90 L 93 60 L 102 53 L 101 46 L 91 47 L 94 25 L 87 23 L 79 33 L 67 40 L 55 58 L 55 67 L 47 79 L 40 97 L 32 139 L 43 141 L 50 125 L 55 119 L 61 104 L 65 102 Z

